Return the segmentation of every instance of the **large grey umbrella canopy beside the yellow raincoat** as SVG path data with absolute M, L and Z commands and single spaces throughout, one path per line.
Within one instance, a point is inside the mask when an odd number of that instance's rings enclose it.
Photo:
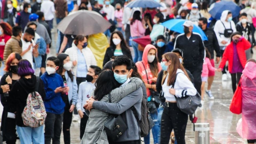
M 63 34 L 91 35 L 104 32 L 111 26 L 99 13 L 79 10 L 70 13 L 57 26 Z

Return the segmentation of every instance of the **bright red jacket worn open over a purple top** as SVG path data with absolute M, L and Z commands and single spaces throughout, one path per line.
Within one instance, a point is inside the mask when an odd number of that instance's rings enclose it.
M 242 38 L 241 41 L 237 43 L 237 53 L 243 68 L 245 68 L 245 64 L 246 64 L 245 50 L 249 49 L 250 47 L 251 47 L 251 43 L 247 41 L 245 38 Z M 229 61 L 228 69 L 229 69 L 229 72 L 231 73 L 232 67 L 233 67 L 233 57 L 234 57 L 234 47 L 233 47 L 233 41 L 232 41 L 229 45 L 227 45 L 223 53 L 221 63 L 219 64 L 219 68 L 223 69 L 223 67 L 226 65 L 226 61 Z

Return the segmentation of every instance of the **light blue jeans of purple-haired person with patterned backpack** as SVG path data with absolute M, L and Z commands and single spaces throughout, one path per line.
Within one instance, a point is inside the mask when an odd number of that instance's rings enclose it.
M 44 144 L 45 137 L 43 134 L 43 126 L 39 127 L 20 127 L 17 126 L 17 133 L 21 144 Z

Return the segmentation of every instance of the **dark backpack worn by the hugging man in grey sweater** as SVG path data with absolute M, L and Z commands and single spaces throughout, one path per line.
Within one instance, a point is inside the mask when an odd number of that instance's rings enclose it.
M 143 97 L 141 102 L 141 120 L 139 120 L 139 116 L 135 107 L 132 106 L 131 110 L 135 118 L 137 119 L 141 131 L 141 137 L 146 137 L 149 134 L 150 129 L 154 126 L 153 119 L 150 117 L 149 111 L 147 109 L 147 101 Z

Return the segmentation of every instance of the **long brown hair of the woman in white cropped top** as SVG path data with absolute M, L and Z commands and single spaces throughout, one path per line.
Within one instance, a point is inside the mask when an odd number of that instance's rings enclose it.
M 177 73 L 178 69 L 181 69 L 184 72 L 184 74 L 187 76 L 187 78 L 189 79 L 189 76 L 187 75 L 185 68 L 179 62 L 179 57 L 175 53 L 172 53 L 172 52 L 165 53 L 163 55 L 163 57 L 166 59 L 167 62 L 171 61 L 171 65 L 169 65 L 167 68 L 167 72 L 169 73 L 169 77 L 167 79 L 167 86 L 174 84 L 176 73 Z M 167 74 L 162 79 L 162 85 L 165 82 L 166 77 L 167 77 Z

